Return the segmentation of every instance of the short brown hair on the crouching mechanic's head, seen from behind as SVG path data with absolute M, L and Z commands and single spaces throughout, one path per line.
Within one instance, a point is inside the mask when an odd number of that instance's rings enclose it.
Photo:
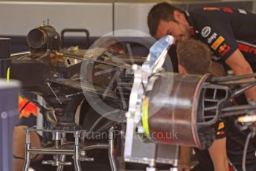
M 179 64 L 188 74 L 207 73 L 211 65 L 211 50 L 205 43 L 191 38 L 188 41 L 179 42 L 176 51 Z

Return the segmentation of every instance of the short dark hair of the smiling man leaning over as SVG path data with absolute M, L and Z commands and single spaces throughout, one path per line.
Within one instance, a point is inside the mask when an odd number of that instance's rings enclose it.
M 156 35 L 156 30 L 161 19 L 167 22 L 176 22 L 173 17 L 174 10 L 179 10 L 179 8 L 168 4 L 167 2 L 161 2 L 151 8 L 150 13 L 147 15 L 147 26 L 150 30 L 151 36 Z M 179 10 L 179 12 L 183 13 L 182 10 Z

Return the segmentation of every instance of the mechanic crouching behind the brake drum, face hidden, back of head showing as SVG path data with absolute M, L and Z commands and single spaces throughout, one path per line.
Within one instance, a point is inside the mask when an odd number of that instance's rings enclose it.
M 211 51 L 199 40 L 188 39 L 180 42 L 177 46 L 177 55 L 179 72 L 182 74 L 206 74 L 212 71 Z M 225 117 L 215 124 L 216 140 L 209 149 L 194 148 L 199 164 L 193 168 L 193 171 L 228 170 L 226 166 L 228 161 L 230 161 L 229 170 L 242 170 L 243 148 L 247 132 L 237 128 L 236 119 L 237 117 Z M 252 143 L 249 143 L 246 155 L 246 169 L 256 170 L 255 147 Z

